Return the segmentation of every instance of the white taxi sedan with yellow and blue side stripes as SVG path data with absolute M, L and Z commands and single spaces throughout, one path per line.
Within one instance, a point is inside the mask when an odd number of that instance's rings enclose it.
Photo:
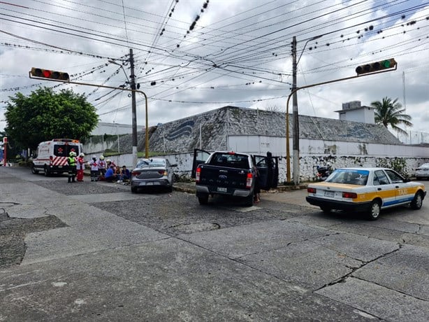
M 381 209 L 406 204 L 420 209 L 426 196 L 423 183 L 386 168 L 336 169 L 326 181 L 310 183 L 307 193 L 307 202 L 323 212 L 362 211 L 372 221 L 379 218 Z

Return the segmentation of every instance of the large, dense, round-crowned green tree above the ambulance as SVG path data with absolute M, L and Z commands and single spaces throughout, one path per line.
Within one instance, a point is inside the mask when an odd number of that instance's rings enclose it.
M 94 106 L 72 90 L 55 93 L 40 87 L 29 96 L 18 92 L 9 99 L 5 132 L 22 148 L 34 150 L 54 138 L 84 140 L 98 123 Z

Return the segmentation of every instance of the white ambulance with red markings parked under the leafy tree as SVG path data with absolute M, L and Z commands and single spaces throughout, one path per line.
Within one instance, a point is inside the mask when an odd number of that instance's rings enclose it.
M 68 171 L 67 158 L 72 151 L 79 155 L 82 153 L 82 144 L 75 139 L 53 139 L 38 144 L 33 155 L 31 172 L 38 174 L 43 171 L 45 176 L 62 174 Z

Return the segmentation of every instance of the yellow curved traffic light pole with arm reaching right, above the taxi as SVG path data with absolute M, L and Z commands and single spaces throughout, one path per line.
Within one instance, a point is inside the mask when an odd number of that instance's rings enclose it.
M 291 182 L 291 174 L 290 174 L 290 169 L 291 169 L 291 165 L 290 165 L 290 151 L 289 151 L 289 101 L 291 99 L 291 96 L 293 94 L 296 94 L 296 92 L 298 92 L 298 90 L 303 90 L 305 88 L 309 88 L 309 87 L 315 87 L 315 86 L 319 86 L 319 85 L 325 85 L 325 84 L 330 84 L 330 83 L 336 83 L 336 82 L 341 82 L 342 80 L 349 80 L 349 79 L 353 79 L 353 78 L 360 78 L 363 76 L 370 76 L 370 75 L 375 75 L 377 73 L 386 73 L 388 71 L 395 71 L 396 69 L 398 69 L 398 64 L 395 64 L 395 68 L 394 69 L 385 69 L 382 71 L 377 71 L 377 72 L 373 72 L 373 73 L 364 73 L 361 75 L 357 75 L 357 76 L 350 76 L 350 77 L 345 77 L 345 78 L 337 78 L 337 79 L 333 79 L 333 80 L 327 80 L 326 82 L 321 82 L 321 83 L 315 83 L 315 84 L 310 84 L 310 85 L 305 85 L 302 87 L 296 87 L 294 90 L 291 91 L 291 94 L 289 94 L 288 98 L 287 98 L 287 102 L 286 102 L 286 181 L 287 182 Z M 298 111 L 297 111 L 298 113 Z M 297 137 L 297 141 L 298 141 L 298 151 L 299 151 L 299 133 L 294 133 L 293 137 Z M 299 158 L 298 160 L 295 160 L 295 158 L 293 158 L 293 178 L 297 177 L 299 179 Z M 289 170 L 288 170 L 289 169 Z M 294 181 L 295 184 L 298 184 L 297 181 Z

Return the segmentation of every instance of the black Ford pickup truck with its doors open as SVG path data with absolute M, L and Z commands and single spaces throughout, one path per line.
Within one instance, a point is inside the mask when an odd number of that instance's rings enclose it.
M 256 180 L 263 190 L 277 187 L 278 162 L 278 157 L 272 157 L 269 152 L 263 156 L 195 149 L 192 177 L 198 202 L 207 204 L 210 195 L 231 195 L 241 198 L 250 207 Z

